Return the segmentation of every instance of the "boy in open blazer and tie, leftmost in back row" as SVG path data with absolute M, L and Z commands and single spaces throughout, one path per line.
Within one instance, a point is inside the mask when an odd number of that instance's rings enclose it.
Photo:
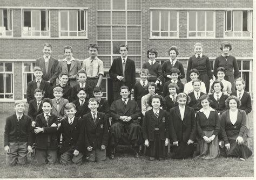
M 50 43 L 44 44 L 43 53 L 43 57 L 39 57 L 36 60 L 36 66 L 43 69 L 43 80 L 48 81 L 51 85 L 56 85 L 59 62 L 51 56 L 52 46 Z

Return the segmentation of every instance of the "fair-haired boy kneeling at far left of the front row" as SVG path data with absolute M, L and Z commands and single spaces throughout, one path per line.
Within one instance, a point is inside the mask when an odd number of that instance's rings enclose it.
M 25 164 L 26 154 L 32 153 L 31 119 L 24 114 L 25 103 L 15 102 L 16 113 L 6 118 L 4 127 L 4 150 L 6 164 Z

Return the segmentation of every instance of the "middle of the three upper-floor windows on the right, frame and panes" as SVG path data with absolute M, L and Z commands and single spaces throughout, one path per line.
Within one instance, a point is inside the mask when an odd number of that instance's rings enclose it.
M 188 11 L 187 37 L 215 37 L 214 11 Z

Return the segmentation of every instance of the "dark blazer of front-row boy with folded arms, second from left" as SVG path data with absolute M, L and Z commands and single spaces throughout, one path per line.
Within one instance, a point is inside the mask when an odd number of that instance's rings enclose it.
M 56 124 L 56 127 L 51 127 L 52 124 Z M 48 120 L 48 126 L 44 118 L 44 113 L 38 114 L 36 117 L 36 127 L 43 127 L 44 132 L 36 134 L 36 149 L 57 149 L 57 125 L 58 117 L 51 113 Z M 48 147 L 48 136 L 50 136 L 50 146 Z

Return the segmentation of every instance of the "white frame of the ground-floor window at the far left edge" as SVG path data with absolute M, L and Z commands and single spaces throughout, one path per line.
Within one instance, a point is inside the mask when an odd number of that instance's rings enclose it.
M 3 71 L 0 71 L 0 74 L 4 75 L 4 84 L 3 84 L 3 93 L 0 93 L 0 95 L 4 95 L 4 98 L 0 98 L 0 102 L 9 102 L 14 100 L 14 62 L 3 62 L 1 61 L 0 63 L 3 63 Z M 5 71 L 5 63 L 11 63 L 12 64 L 12 71 Z M 11 89 L 12 92 L 6 93 L 6 74 L 11 75 Z M 2 85 L 2 84 L 1 84 Z M 12 98 L 5 98 L 5 96 L 12 95 Z

